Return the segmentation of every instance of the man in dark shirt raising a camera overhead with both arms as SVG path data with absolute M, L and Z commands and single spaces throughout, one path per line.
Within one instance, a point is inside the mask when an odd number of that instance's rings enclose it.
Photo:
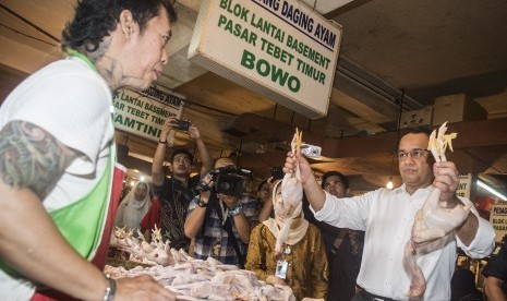
M 155 225 L 162 230 L 164 236 L 170 240 L 171 248 L 189 251 L 190 240 L 184 236 L 184 221 L 186 209 L 192 198 L 197 194 L 195 190 L 201 176 L 212 169 L 213 159 L 201 139 L 198 129 L 190 122 L 186 128 L 180 128 L 181 120 L 168 118 L 160 133 L 157 149 L 153 158 L 152 179 L 156 200 L 146 216 L 141 221 L 144 236 L 148 239 Z M 171 155 L 172 177 L 168 179 L 164 172 L 164 159 L 168 145 L 169 133 L 173 130 L 184 130 L 196 144 L 202 160 L 201 173 L 191 178 L 192 154 L 184 148 L 176 149 Z

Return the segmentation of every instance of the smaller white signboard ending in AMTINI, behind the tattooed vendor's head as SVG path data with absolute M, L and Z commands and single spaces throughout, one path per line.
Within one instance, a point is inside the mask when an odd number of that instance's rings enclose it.
M 156 86 L 143 92 L 118 89 L 112 94 L 113 123 L 118 130 L 158 141 L 168 117 L 181 117 L 184 98 Z

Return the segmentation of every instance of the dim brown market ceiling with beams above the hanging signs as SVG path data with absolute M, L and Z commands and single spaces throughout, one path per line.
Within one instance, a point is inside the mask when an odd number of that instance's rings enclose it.
M 306 2 L 343 29 L 328 113 L 316 120 L 190 62 L 186 52 L 202 0 L 177 1 L 180 21 L 168 46 L 171 59 L 157 84 L 186 97 L 184 117 L 201 129 L 214 157 L 241 148 L 241 165 L 266 174 L 269 166 L 282 162 L 288 133 L 299 127 L 310 141 L 319 137 L 328 146 L 326 158 L 313 164 L 317 172 L 337 169 L 351 176 L 352 185 L 367 190 L 383 185 L 396 171 L 390 145 L 396 141 L 401 95 L 403 111 L 431 106 L 438 96 L 464 93 L 490 118 L 507 118 L 504 0 Z M 21 79 L 60 56 L 58 37 L 75 1 L 1 0 L 0 4 L 3 99 Z M 456 142 L 463 145 L 456 155 L 460 170 L 502 179 L 507 173 L 507 143 L 494 133 L 507 132 L 506 119 L 455 127 L 483 131 L 478 143 L 470 132 L 460 133 L 463 139 Z M 486 141 L 492 135 L 495 141 Z M 153 156 L 155 143 L 124 133 L 118 137 L 133 155 Z M 190 145 L 184 136 L 177 143 Z M 354 153 L 340 149 L 340 144 L 364 148 Z

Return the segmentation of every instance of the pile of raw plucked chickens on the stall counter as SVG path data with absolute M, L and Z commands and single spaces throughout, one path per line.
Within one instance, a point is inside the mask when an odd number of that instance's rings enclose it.
M 177 293 L 177 300 L 295 300 L 289 287 L 266 285 L 251 270 L 238 269 L 212 257 L 194 260 L 183 251 L 168 250 L 169 242 L 162 242 L 159 229 L 152 237 L 152 243 L 147 243 L 141 233 L 140 241 L 132 236 L 132 230 L 116 228 L 111 245 L 130 252 L 130 261 L 153 266 L 128 270 L 107 265 L 104 272 L 113 279 L 148 274 Z

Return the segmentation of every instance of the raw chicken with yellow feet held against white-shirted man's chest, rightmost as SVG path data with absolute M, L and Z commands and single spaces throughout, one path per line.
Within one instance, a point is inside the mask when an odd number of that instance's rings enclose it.
M 456 137 L 456 133 L 445 135 L 446 123 L 438 129 L 438 134 L 433 131 L 430 136 L 427 148 L 436 161 L 446 160 L 447 146 L 452 150 L 450 141 Z M 426 289 L 426 279 L 417 263 L 418 255 L 444 248 L 452 239 L 452 231 L 464 222 L 470 212 L 470 206 L 461 204 L 454 208 L 446 208 L 439 200 L 440 190 L 433 188 L 422 208 L 415 213 L 412 237 L 405 246 L 405 263 L 412 277 L 410 290 L 407 293 L 410 298 L 422 297 Z

